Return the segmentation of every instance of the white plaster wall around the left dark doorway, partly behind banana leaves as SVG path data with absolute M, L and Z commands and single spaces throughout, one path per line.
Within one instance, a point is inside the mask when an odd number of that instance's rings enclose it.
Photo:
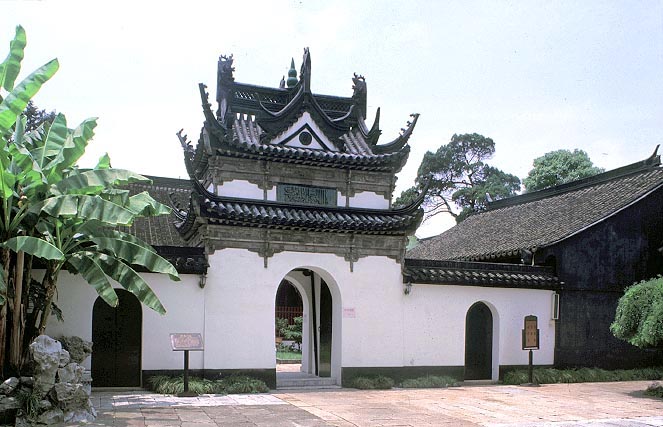
M 197 275 L 181 275 L 180 282 L 173 282 L 167 276 L 145 273 L 143 277 L 157 294 L 167 313 L 162 316 L 152 309 L 142 306 L 142 369 L 181 369 L 182 352 L 170 348 L 170 333 L 199 332 L 204 330 L 203 290 L 199 288 Z M 120 288 L 120 286 L 116 286 Z M 64 322 L 55 317 L 49 319 L 46 333 L 53 337 L 77 335 L 92 340 L 92 308 L 97 293 L 79 275 L 60 273 L 56 303 L 62 309 Z M 94 347 L 93 347 L 94 348 Z M 189 365 L 192 369 L 204 366 L 204 352 L 191 352 Z M 91 359 L 85 367 L 90 369 Z

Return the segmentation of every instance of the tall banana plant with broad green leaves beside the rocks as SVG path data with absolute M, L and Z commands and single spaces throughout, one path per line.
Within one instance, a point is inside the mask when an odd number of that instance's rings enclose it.
M 132 196 L 123 188 L 149 180 L 111 169 L 107 155 L 94 169 L 76 166 L 94 135 L 96 119 L 70 129 L 58 114 L 27 130 L 28 119 L 21 113 L 55 74 L 58 62 L 48 62 L 14 86 L 25 41 L 19 26 L 10 54 L 0 64 L 0 86 L 8 92 L 0 96 L 1 343 L 9 332 L 9 346 L 0 346 L 0 373 L 6 362 L 19 371 L 26 344 L 43 333 L 61 270 L 81 274 L 112 306 L 118 298 L 109 279 L 162 314 L 165 308 L 133 266 L 179 280 L 153 248 L 115 229 L 140 216 L 169 212 L 147 193 Z M 32 274 L 36 262 L 45 269 L 39 281 Z

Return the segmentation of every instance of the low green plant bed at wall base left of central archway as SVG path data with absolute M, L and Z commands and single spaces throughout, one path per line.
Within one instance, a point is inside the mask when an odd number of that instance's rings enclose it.
M 150 390 L 159 394 L 178 394 L 184 391 L 184 378 L 156 375 L 148 380 Z M 267 393 L 269 387 L 262 380 L 244 375 L 233 375 L 219 380 L 190 377 L 189 390 L 198 394 L 252 394 Z

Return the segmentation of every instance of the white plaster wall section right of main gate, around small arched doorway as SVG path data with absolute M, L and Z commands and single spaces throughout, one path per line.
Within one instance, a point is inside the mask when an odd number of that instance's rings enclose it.
M 499 365 L 524 365 L 521 330 L 525 316 L 538 317 L 541 349 L 535 364 L 552 364 L 555 324 L 551 320 L 552 291 L 499 289 L 472 286 L 414 284 L 404 295 L 404 348 L 406 366 L 463 366 L 465 364 L 465 317 L 476 302 L 493 313 L 493 377 Z M 497 350 L 497 348 L 495 349 Z M 497 358 L 497 360 L 496 360 Z

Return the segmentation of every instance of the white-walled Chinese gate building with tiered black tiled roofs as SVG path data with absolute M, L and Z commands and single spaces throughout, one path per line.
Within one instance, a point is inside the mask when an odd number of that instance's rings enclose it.
M 501 366 L 527 363 L 522 319 L 550 319 L 552 271 L 406 266 L 421 200 L 394 207 L 392 196 L 418 115 L 383 142 L 380 110 L 366 123 L 364 77 L 352 81 L 348 97 L 312 92 L 308 50 L 299 73 L 293 63 L 277 88 L 236 82 L 232 57 L 219 59 L 215 111 L 200 85 L 200 137 L 192 144 L 178 134 L 190 180 L 135 185 L 176 206 L 171 218 L 137 221 L 131 231 L 172 260 L 183 281 L 146 274 L 168 314 L 143 309 L 142 323 L 134 322 L 142 341 L 131 369 L 143 376 L 181 369 L 169 333 L 199 332 L 205 350 L 191 355 L 194 371 L 249 372 L 274 386 L 275 297 L 284 281 L 301 295 L 302 371 L 332 384 L 378 373 L 496 380 Z M 69 280 L 59 299 L 66 320 L 51 333 L 89 339 L 93 329 L 112 328 L 96 324 L 112 316 L 93 316 L 94 290 Z M 540 327 L 537 363 L 551 365 L 554 322 Z M 121 347 L 93 359 L 121 359 Z M 112 385 L 141 383 L 131 381 Z

